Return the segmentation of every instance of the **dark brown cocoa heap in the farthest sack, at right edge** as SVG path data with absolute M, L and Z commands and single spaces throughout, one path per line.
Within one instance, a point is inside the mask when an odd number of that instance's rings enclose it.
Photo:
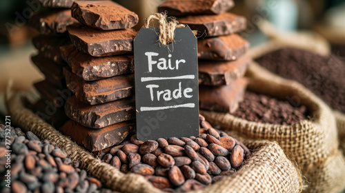
M 286 79 L 302 83 L 331 108 L 345 112 L 345 63 L 335 55 L 322 57 L 296 48 L 282 48 L 257 62 Z

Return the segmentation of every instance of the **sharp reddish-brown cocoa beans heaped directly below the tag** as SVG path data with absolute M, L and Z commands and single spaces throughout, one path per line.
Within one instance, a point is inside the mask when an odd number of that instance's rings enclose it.
M 166 192 L 199 190 L 240 169 L 246 146 L 215 130 L 200 116 L 198 136 L 139 141 L 136 135 L 115 146 L 102 161 L 121 172 L 141 174 Z

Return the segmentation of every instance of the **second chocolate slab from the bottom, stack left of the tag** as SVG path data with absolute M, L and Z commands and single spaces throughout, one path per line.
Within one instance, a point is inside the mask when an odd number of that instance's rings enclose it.
M 135 98 L 130 97 L 103 103 L 88 105 L 75 96 L 66 101 L 65 112 L 70 119 L 88 128 L 104 128 L 108 125 L 135 119 Z

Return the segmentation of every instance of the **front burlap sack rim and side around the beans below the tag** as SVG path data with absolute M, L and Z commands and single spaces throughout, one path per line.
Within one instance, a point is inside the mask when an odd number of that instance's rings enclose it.
M 37 134 L 40 139 L 55 141 L 72 161 L 79 161 L 82 169 L 105 183 L 107 187 L 124 193 L 161 192 L 143 176 L 123 174 L 115 167 L 95 159 L 89 152 L 24 108 L 21 99 L 21 96 L 15 95 L 7 100 L 12 121 L 24 131 Z M 242 169 L 237 174 L 195 192 L 302 192 L 299 170 L 277 143 L 242 138 L 239 140 L 253 149 L 252 156 L 246 160 Z

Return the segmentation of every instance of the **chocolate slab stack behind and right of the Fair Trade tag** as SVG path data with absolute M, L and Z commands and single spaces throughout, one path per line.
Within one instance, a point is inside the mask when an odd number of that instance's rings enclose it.
M 167 0 L 158 8 L 197 31 L 199 100 L 204 110 L 234 112 L 244 96 L 249 43 L 235 34 L 246 29 L 246 19 L 226 12 L 233 6 L 233 0 Z

